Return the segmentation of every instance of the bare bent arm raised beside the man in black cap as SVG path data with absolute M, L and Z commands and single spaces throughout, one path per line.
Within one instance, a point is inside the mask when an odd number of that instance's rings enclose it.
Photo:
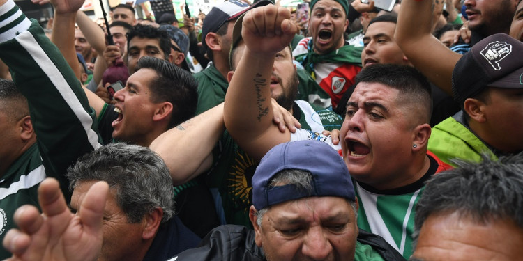
M 452 72 L 461 54 L 450 51 L 431 34 L 434 4 L 444 0 L 403 0 L 395 39 L 409 61 L 448 95 Z

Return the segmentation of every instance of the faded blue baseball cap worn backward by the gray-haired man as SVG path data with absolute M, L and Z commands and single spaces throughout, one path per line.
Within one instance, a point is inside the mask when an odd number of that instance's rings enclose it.
M 312 174 L 312 191 L 293 184 L 271 187 L 273 177 L 285 169 Z M 252 177 L 252 205 L 257 210 L 313 196 L 334 196 L 356 201 L 349 170 L 342 157 L 321 141 L 292 141 L 276 145 L 261 159 Z

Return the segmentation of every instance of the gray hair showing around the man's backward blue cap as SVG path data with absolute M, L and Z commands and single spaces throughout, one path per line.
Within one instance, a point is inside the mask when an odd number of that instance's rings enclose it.
M 293 184 L 297 189 L 302 191 L 307 191 L 312 193 L 312 174 L 309 171 L 303 171 L 299 169 L 284 169 L 279 173 L 276 173 L 271 179 L 271 183 L 268 185 L 271 187 L 280 187 L 287 184 Z M 347 200 L 356 214 L 356 219 L 358 219 L 358 212 L 356 212 L 356 203 L 351 200 Z M 261 226 L 261 220 L 264 218 L 264 214 L 271 207 L 265 207 L 264 209 L 259 209 L 256 211 L 256 223 L 258 226 Z

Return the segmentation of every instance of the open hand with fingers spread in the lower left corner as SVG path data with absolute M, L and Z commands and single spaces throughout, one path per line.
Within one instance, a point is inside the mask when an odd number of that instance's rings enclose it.
M 47 178 L 38 188 L 43 214 L 33 206 L 17 209 L 3 246 L 13 253 L 8 260 L 96 260 L 102 247 L 102 216 L 109 186 L 97 182 L 86 193 L 82 211 L 72 214 L 58 181 Z

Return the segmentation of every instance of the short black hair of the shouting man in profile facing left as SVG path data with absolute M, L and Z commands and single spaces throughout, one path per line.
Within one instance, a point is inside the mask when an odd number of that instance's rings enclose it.
M 156 72 L 149 84 L 151 102 L 171 102 L 173 105 L 169 129 L 192 118 L 198 101 L 198 84 L 190 72 L 151 56 L 139 59 L 137 70 L 149 68 Z

